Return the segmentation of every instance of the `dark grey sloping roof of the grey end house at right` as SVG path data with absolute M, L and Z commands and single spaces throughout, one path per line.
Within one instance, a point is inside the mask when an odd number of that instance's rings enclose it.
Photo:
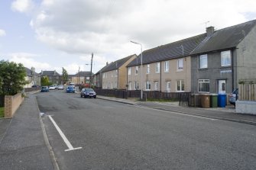
M 255 24 L 256 20 L 253 20 L 221 30 L 215 30 L 212 36 L 206 37 L 192 54 L 235 48 L 251 31 Z

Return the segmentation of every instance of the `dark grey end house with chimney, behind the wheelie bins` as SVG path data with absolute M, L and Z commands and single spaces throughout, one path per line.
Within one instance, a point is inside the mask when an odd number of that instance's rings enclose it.
M 256 80 L 256 20 L 214 30 L 192 53 L 192 92 L 231 93 Z

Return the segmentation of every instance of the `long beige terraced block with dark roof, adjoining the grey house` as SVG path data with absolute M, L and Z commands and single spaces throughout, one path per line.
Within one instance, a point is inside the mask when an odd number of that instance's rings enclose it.
M 206 34 L 169 43 L 142 54 L 144 91 L 183 92 L 191 90 L 191 56 Z M 128 64 L 128 90 L 141 89 L 141 55 Z

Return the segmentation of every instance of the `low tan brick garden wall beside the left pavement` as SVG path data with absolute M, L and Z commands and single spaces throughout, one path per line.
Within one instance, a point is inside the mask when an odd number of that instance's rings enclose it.
M 21 105 L 24 98 L 21 93 L 17 95 L 5 95 L 5 117 L 12 117 Z

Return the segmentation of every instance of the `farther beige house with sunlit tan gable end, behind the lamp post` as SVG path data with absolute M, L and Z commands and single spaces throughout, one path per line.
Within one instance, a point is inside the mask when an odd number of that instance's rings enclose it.
M 102 88 L 103 89 L 126 89 L 128 63 L 131 63 L 137 56 L 135 54 L 118 59 L 109 64 L 102 70 Z

